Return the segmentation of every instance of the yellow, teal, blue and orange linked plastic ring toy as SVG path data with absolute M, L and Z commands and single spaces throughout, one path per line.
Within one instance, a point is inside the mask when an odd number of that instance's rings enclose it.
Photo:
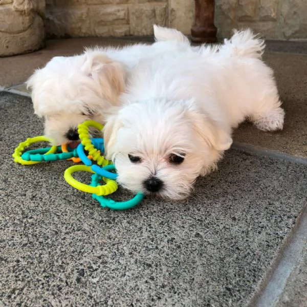
M 89 120 L 78 126 L 78 133 L 81 143 L 77 148 L 69 148 L 67 144 L 51 146 L 47 148 L 31 149 L 23 152 L 26 147 L 37 142 L 51 142 L 45 136 L 29 138 L 21 142 L 13 153 L 14 161 L 23 165 L 37 164 L 42 161 L 72 160 L 74 163 L 83 162 L 85 165 L 74 165 L 64 172 L 64 179 L 73 187 L 83 192 L 92 193 L 93 199 L 97 200 L 101 207 L 113 210 L 125 210 L 138 205 L 144 198 L 138 193 L 133 199 L 124 202 L 116 202 L 106 195 L 114 193 L 118 189 L 115 166 L 104 158 L 104 141 L 102 138 L 91 138 L 89 128 L 94 127 L 102 130 L 103 125 Z M 86 152 L 87 151 L 87 152 Z M 93 161 L 97 164 L 93 164 Z M 90 185 L 83 184 L 73 178 L 72 174 L 78 171 L 92 173 Z M 100 182 L 104 184 L 100 184 Z

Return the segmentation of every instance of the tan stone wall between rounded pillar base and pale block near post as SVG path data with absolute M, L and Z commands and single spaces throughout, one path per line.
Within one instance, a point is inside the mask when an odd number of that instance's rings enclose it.
M 152 24 L 168 23 L 167 0 L 47 0 L 49 36 L 152 34 Z

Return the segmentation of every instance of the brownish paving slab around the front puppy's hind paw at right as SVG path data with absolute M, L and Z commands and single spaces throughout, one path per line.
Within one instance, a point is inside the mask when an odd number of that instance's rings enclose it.
M 274 70 L 286 111 L 284 128 L 267 133 L 245 122 L 234 132 L 234 140 L 307 158 L 307 55 L 267 53 L 264 59 Z

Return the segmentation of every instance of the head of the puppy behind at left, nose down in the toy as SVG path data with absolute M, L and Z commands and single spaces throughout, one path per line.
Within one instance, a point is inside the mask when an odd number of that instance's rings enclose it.
M 103 123 L 124 91 L 124 69 L 99 50 L 54 57 L 27 81 L 35 114 L 45 119 L 45 134 L 55 144 L 78 139 L 84 120 Z

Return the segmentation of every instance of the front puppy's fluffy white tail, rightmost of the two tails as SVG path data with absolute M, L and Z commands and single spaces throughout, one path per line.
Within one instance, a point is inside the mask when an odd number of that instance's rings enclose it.
M 265 41 L 254 35 L 250 29 L 234 30 L 233 36 L 224 40 L 220 52 L 228 53 L 230 56 L 261 58 L 265 47 Z

